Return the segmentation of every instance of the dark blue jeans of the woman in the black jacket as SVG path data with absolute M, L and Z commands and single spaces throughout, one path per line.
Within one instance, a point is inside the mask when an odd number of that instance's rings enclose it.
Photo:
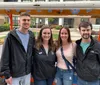
M 44 80 L 37 80 L 34 79 L 34 85 L 52 85 L 54 78 L 44 79 Z

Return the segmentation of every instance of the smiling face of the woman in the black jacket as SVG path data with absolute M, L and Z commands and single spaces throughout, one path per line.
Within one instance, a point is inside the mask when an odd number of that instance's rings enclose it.
M 49 28 L 43 29 L 42 31 L 42 40 L 49 41 L 51 38 L 51 30 Z

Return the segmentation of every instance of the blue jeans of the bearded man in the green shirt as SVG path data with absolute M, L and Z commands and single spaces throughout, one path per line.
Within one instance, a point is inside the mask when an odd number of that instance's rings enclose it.
M 100 80 L 98 79 L 93 82 L 87 82 L 78 77 L 77 85 L 100 85 Z

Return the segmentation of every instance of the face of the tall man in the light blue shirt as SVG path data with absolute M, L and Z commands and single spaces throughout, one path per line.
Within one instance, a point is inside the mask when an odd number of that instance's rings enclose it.
M 31 24 L 31 20 L 29 16 L 21 16 L 19 18 L 19 25 L 23 29 L 29 29 Z

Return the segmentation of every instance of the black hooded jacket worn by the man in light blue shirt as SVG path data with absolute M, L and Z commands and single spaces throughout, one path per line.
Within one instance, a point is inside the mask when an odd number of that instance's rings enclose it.
M 6 78 L 20 77 L 31 72 L 32 49 L 34 47 L 34 34 L 29 31 L 27 52 L 25 51 L 16 30 L 8 33 L 1 56 L 1 72 Z

